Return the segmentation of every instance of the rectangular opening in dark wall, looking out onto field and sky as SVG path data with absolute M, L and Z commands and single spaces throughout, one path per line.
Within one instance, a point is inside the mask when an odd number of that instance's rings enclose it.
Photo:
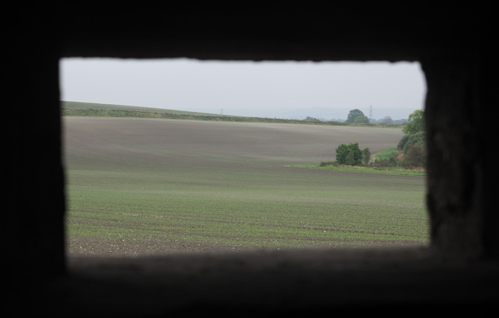
M 396 148 L 422 78 L 417 63 L 64 59 L 66 252 L 426 245 L 423 176 L 295 166 Z M 352 110 L 371 124 L 346 125 Z

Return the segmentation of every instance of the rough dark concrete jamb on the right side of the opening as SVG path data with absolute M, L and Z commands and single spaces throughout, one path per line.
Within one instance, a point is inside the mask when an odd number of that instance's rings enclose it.
M 492 129 L 497 111 L 484 58 L 456 54 L 422 63 L 431 245 L 450 257 L 498 257 Z

